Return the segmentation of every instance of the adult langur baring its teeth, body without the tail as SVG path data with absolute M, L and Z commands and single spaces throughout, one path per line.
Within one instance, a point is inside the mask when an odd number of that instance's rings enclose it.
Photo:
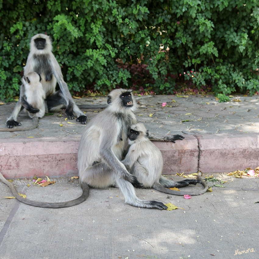
M 166 209 L 161 202 L 140 200 L 136 196 L 134 187 L 143 185 L 120 161 L 127 143 L 128 129 L 137 122 L 134 115 L 137 104 L 131 91 L 112 90 L 107 103 L 108 108 L 94 117 L 82 134 L 77 160 L 80 182 L 92 188 L 117 187 L 125 197 L 125 203 L 132 206 Z M 172 136 L 171 141 L 176 139 L 183 137 Z

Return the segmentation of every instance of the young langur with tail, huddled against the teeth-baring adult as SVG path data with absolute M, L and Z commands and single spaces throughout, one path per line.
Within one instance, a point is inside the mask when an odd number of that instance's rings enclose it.
M 148 130 L 143 123 L 137 123 L 130 126 L 128 132 L 129 150 L 122 163 L 131 174 L 143 183 L 145 188 L 154 188 L 160 192 L 173 195 L 199 195 L 208 190 L 208 185 L 201 179 L 201 173 L 198 173 L 198 180 L 183 180 L 173 182 L 162 176 L 163 158 L 161 151 L 148 139 Z M 183 187 L 189 184 L 201 183 L 204 189 L 201 191 L 176 191 L 169 190 L 172 187 Z

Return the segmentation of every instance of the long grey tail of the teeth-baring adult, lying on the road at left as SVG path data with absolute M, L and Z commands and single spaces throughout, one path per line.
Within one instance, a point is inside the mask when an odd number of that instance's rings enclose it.
M 28 199 L 25 199 L 25 198 L 21 197 L 19 195 L 19 193 L 17 193 L 14 185 L 5 179 L 5 177 L 2 175 L 1 172 L 0 172 L 0 180 L 10 187 L 13 196 L 17 200 L 19 200 L 22 203 L 25 203 L 25 204 L 28 204 L 28 205 L 31 205 L 31 206 L 34 206 L 34 207 L 41 207 L 41 208 L 67 208 L 67 207 L 78 205 L 78 204 L 82 203 L 83 201 L 85 201 L 87 199 L 87 197 L 89 196 L 89 189 L 90 189 L 88 184 L 81 183 L 81 188 L 83 190 L 83 193 L 80 197 L 76 198 L 75 200 L 69 200 L 69 201 L 66 201 L 66 202 L 49 203 L 49 202 L 40 202 L 40 201 L 28 200 Z

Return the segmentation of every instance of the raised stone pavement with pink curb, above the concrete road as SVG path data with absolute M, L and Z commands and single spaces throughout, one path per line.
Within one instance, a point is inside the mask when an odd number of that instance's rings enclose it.
M 106 97 L 74 99 L 83 105 L 105 105 Z M 164 174 L 231 172 L 258 166 L 259 96 L 231 98 L 219 103 L 214 96 L 137 97 L 137 120 L 151 133 L 181 134 L 176 143 L 155 142 L 164 159 Z M 163 107 L 162 103 L 166 103 Z M 14 103 L 0 105 L 0 128 Z M 98 106 L 97 106 L 98 107 Z M 84 109 L 83 109 L 84 110 Z M 91 119 L 100 108 L 84 110 Z M 64 111 L 44 116 L 34 130 L 0 132 L 0 170 L 11 179 L 71 176 L 77 173 L 77 149 L 85 125 L 65 120 Z M 31 119 L 21 113 L 22 126 Z M 62 125 L 62 126 L 60 126 Z

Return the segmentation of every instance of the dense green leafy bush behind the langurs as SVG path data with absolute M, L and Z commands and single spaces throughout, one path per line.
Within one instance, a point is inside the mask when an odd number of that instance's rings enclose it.
M 30 37 L 46 32 L 70 90 L 259 90 L 257 0 L 0 0 L 0 98 L 18 95 Z

